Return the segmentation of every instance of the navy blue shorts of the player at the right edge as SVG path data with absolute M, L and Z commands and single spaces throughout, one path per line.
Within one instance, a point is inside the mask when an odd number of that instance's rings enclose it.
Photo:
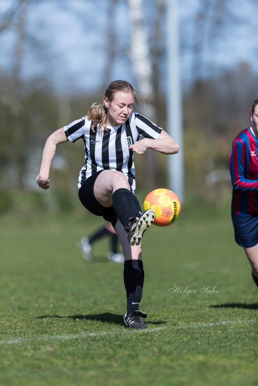
M 232 213 L 235 240 L 240 247 L 251 248 L 258 244 L 258 216 L 239 216 Z

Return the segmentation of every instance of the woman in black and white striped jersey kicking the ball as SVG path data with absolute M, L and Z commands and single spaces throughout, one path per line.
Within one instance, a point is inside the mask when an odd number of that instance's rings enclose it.
M 50 166 L 58 144 L 83 140 L 85 161 L 79 176 L 79 198 L 87 210 L 103 216 L 116 230 L 125 256 L 127 311 L 124 324 L 143 329 L 147 325 L 140 317 L 145 318 L 147 314 L 139 311 L 144 283 L 141 240 L 154 221 L 155 212 L 149 209 L 142 214 L 135 196 L 133 153 L 144 154 L 152 149 L 175 154 L 179 146 L 160 127 L 133 112 L 135 102 L 135 89 L 130 83 L 111 82 L 101 105 L 92 105 L 87 116 L 50 135 L 36 182 L 42 189 L 49 188 Z M 138 141 L 140 138 L 142 140 Z

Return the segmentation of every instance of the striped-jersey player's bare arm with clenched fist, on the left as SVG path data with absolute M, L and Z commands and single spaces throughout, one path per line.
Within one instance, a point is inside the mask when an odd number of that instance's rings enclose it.
M 64 142 L 68 142 L 68 139 L 65 135 L 65 131 L 63 127 L 61 129 L 56 130 L 51 134 L 46 140 L 46 144 L 43 149 L 41 167 L 39 171 L 39 175 L 36 178 L 36 183 L 39 188 L 48 189 L 50 186 L 50 166 L 53 161 L 53 158 L 56 153 L 56 146 L 58 144 L 62 144 Z

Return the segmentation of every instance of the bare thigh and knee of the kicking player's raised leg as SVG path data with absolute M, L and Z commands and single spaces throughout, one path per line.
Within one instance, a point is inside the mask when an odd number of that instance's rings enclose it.
M 94 183 L 94 196 L 105 208 L 112 206 L 112 194 L 115 190 L 125 188 L 130 190 L 126 176 L 120 171 L 103 170 Z

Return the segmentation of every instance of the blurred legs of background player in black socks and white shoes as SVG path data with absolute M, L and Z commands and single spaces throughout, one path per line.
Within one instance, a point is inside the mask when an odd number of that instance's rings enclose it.
M 89 237 L 82 237 L 77 243 L 77 247 L 80 249 L 82 257 L 86 261 L 92 262 L 94 260 L 92 254 L 92 244 L 107 235 L 110 238 L 110 252 L 107 253 L 108 259 L 115 263 L 123 263 L 125 261 L 124 255 L 118 252 L 118 235 L 116 234 L 111 222 L 108 222 L 104 227 L 97 229 L 96 232 L 91 234 Z

